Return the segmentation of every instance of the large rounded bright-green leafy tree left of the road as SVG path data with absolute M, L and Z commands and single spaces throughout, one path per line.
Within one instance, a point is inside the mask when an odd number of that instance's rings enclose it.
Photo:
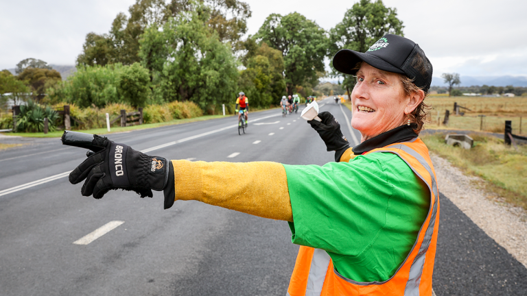
M 154 101 L 193 101 L 214 110 L 235 92 L 237 69 L 229 45 L 205 23 L 208 10 L 183 12 L 162 28 L 145 30 L 140 44 L 142 64 L 150 69 Z

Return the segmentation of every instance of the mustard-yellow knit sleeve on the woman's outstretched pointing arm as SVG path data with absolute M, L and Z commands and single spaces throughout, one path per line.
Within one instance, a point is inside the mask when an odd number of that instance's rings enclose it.
M 277 162 L 189 162 L 172 160 L 178 200 L 293 221 L 288 179 Z

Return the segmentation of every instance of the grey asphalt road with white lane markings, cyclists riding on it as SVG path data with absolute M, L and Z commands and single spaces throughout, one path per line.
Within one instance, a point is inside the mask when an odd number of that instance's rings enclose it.
M 360 140 L 347 126 L 347 108 L 322 103 L 352 144 L 351 132 Z M 109 138 L 169 159 L 333 161 L 299 113 L 249 116 L 242 136 L 227 116 Z M 162 193 L 82 197 L 82 184 L 66 175 L 84 160 L 83 149 L 58 139 L 13 140 L 30 145 L 0 152 L 0 295 L 285 295 L 298 250 L 287 223 L 194 201 L 163 210 Z M 526 295 L 525 267 L 448 199 L 441 203 L 436 294 Z M 112 222 L 91 243 L 74 243 Z

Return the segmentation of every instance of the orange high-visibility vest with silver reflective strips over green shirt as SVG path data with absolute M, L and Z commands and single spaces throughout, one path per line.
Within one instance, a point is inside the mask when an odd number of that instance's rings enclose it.
M 288 296 L 334 295 L 432 295 L 432 273 L 439 227 L 438 188 L 428 148 L 419 138 L 373 149 L 390 152 L 404 160 L 430 190 L 430 209 L 410 254 L 395 274 L 384 282 L 355 282 L 333 268 L 326 251 L 301 246 L 296 257 Z M 365 154 L 367 154 L 365 153 Z

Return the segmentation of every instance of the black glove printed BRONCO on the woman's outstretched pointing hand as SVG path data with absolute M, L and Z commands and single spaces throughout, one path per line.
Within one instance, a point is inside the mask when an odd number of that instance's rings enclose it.
M 69 182 L 86 179 L 81 193 L 96 199 L 109 190 L 132 190 L 141 197 L 152 197 L 152 189 L 161 191 L 168 181 L 165 158 L 148 156 L 132 147 L 117 144 L 106 137 L 93 136 L 93 146 L 102 150 L 93 153 L 69 174 Z

